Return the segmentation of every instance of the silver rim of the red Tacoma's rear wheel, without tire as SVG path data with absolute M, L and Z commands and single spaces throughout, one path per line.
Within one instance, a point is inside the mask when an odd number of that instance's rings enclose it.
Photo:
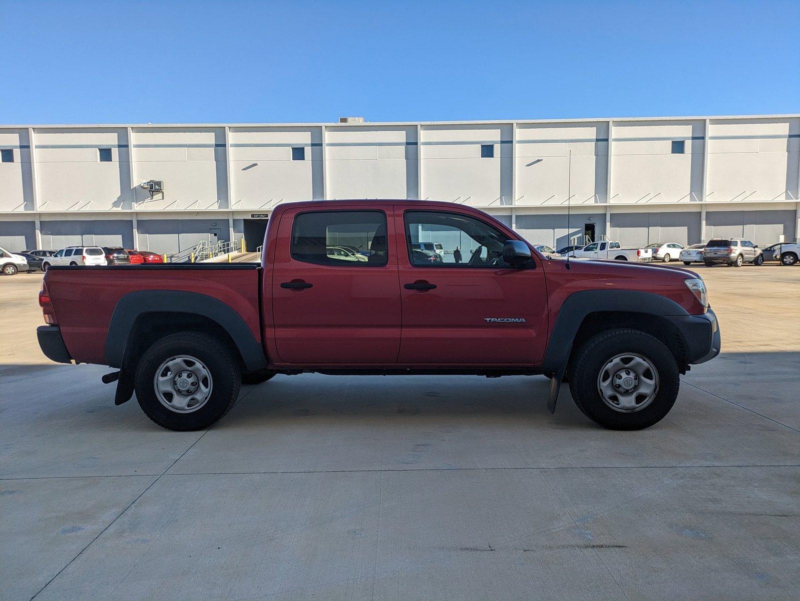
M 153 387 L 164 407 L 175 413 L 192 413 L 211 397 L 211 371 L 190 355 L 170 357 L 156 370 Z

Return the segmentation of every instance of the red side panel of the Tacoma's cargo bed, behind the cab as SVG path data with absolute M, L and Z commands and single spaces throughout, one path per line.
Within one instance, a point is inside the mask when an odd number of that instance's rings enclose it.
M 260 344 L 260 274 L 254 263 L 51 266 L 44 285 L 70 356 L 76 363 L 108 364 L 104 350 L 111 316 L 124 295 L 139 290 L 183 290 L 215 298 L 242 317 Z

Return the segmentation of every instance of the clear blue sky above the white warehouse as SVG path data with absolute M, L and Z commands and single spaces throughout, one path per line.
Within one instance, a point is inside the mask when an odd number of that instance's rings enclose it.
M 800 2 L 10 2 L 0 122 L 800 112 Z

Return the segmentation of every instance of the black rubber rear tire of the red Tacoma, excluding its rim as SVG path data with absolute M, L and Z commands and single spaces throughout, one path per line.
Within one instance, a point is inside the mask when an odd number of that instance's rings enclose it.
M 178 355 L 196 357 L 210 371 L 210 397 L 197 411 L 178 413 L 158 400 L 154 387 L 156 371 L 167 359 Z M 139 407 L 154 423 L 174 431 L 205 430 L 222 419 L 238 399 L 242 375 L 230 351 L 210 336 L 197 332 L 181 332 L 154 343 L 136 369 L 134 387 Z

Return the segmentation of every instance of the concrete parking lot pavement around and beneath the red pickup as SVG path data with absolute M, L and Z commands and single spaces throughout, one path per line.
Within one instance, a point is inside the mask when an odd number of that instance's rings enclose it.
M 637 432 L 544 377 L 325 375 L 166 431 L 0 278 L 0 599 L 796 599 L 800 266 L 692 269 L 722 355 Z

